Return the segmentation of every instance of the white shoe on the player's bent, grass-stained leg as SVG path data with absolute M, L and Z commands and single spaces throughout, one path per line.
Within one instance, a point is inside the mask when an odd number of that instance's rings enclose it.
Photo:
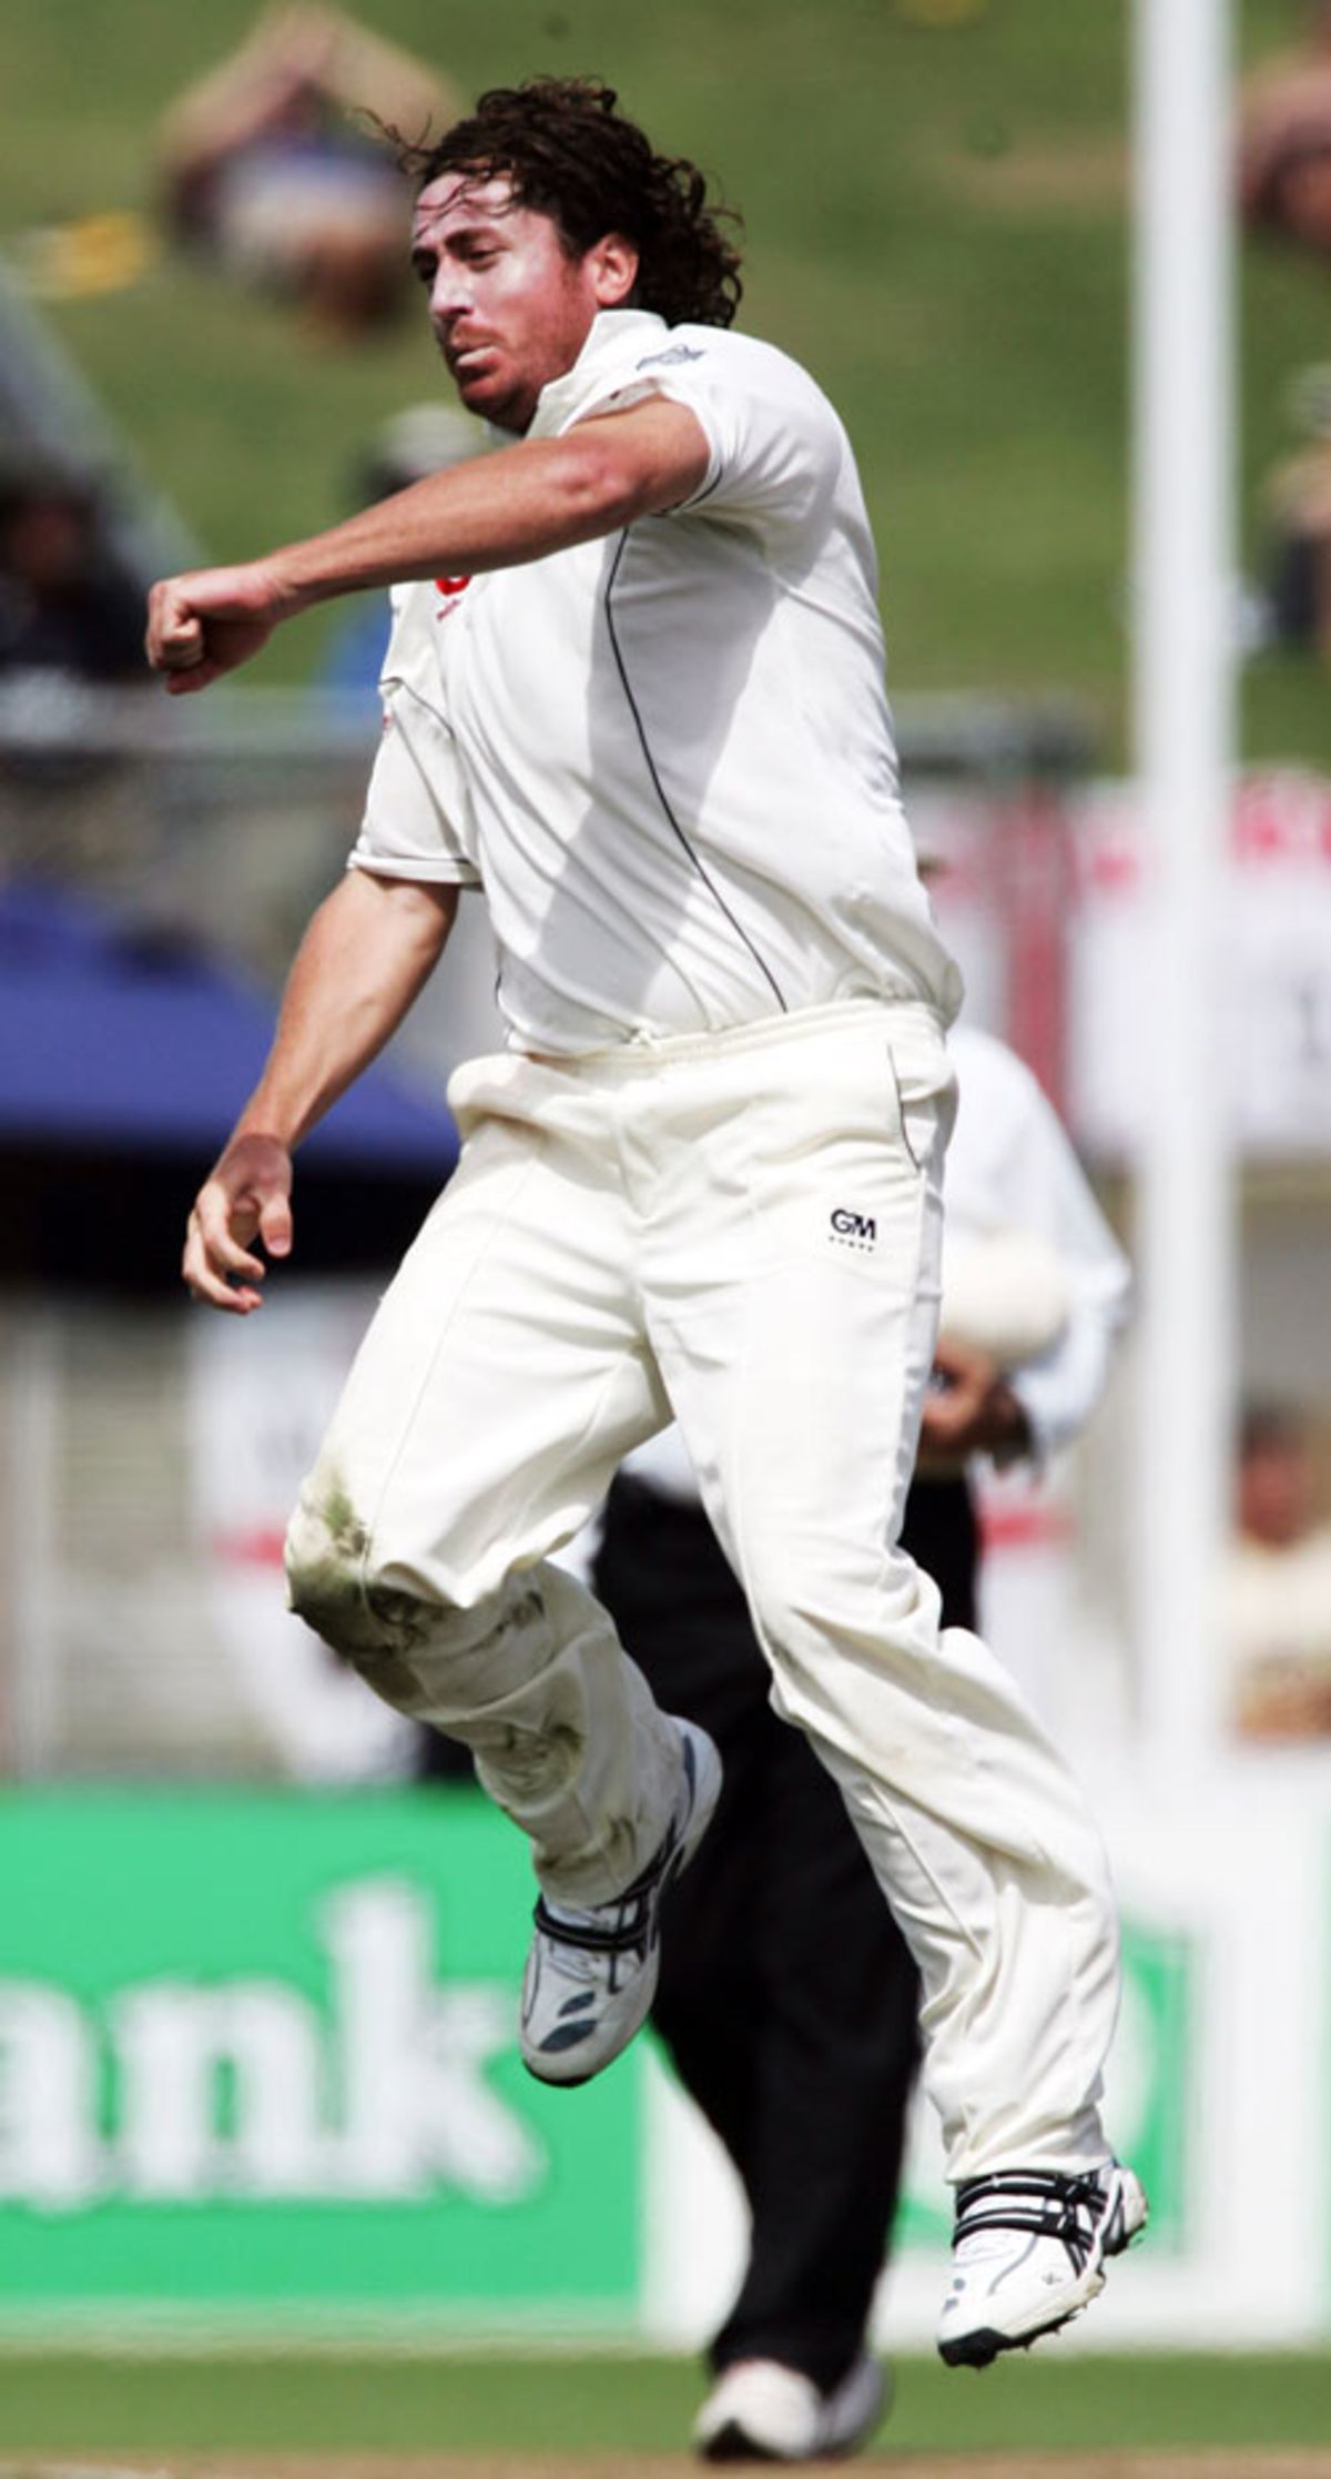
M 721 1758 L 706 1730 L 669 1718 L 684 1777 L 657 1857 L 595 1909 L 575 1911 L 545 1896 L 535 1904 L 518 2048 L 538 2082 L 590 2082 L 630 2045 L 657 1993 L 662 1894 L 694 1857 L 721 1792 Z

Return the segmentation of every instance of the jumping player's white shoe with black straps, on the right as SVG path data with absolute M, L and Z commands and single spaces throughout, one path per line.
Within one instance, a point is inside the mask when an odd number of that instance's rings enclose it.
M 949 2367 L 986 2367 L 999 2350 L 1026 2350 L 1066 2325 L 1100 2296 L 1105 2256 L 1120 2256 L 1145 2216 L 1140 2182 L 1113 2159 L 1081 2177 L 999 2169 L 969 2179 L 957 2189 L 939 2355 Z

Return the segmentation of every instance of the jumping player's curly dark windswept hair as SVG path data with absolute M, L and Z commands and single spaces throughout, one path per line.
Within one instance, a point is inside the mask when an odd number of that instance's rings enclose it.
M 639 310 L 657 310 L 672 327 L 729 327 L 741 278 L 721 223 L 739 226 L 739 216 L 709 206 L 696 164 L 654 154 L 617 102 L 595 77 L 491 87 L 441 139 L 399 139 L 397 161 L 419 188 L 446 171 L 511 181 L 516 206 L 550 216 L 570 258 L 622 233 L 637 250 Z

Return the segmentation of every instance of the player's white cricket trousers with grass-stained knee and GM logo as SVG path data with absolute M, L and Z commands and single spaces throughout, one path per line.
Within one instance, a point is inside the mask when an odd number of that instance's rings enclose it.
M 1098 1837 L 1006 1671 L 897 1547 L 939 1289 L 952 1066 L 853 1002 L 585 1059 L 478 1059 L 463 1153 L 352 1368 L 292 1606 L 476 1755 L 548 1894 L 657 1849 L 679 1748 L 550 1552 L 682 1425 L 773 1668 L 917 1956 L 952 2179 L 1086 2169 L 1118 1939 Z M 828 1919 L 828 1936 L 838 1934 Z

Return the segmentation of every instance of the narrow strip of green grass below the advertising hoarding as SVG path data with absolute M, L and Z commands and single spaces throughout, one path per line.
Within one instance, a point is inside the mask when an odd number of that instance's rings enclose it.
M 1326 2358 L 897 2362 L 887 2452 L 1324 2444 Z M 0 2358 L 10 2452 L 674 2452 L 701 2397 L 674 2358 Z

